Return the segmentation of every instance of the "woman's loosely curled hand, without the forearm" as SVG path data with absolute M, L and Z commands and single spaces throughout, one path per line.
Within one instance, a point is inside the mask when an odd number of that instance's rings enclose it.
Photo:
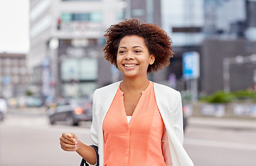
M 62 133 L 60 147 L 65 151 L 76 151 L 78 149 L 78 138 L 74 133 Z

